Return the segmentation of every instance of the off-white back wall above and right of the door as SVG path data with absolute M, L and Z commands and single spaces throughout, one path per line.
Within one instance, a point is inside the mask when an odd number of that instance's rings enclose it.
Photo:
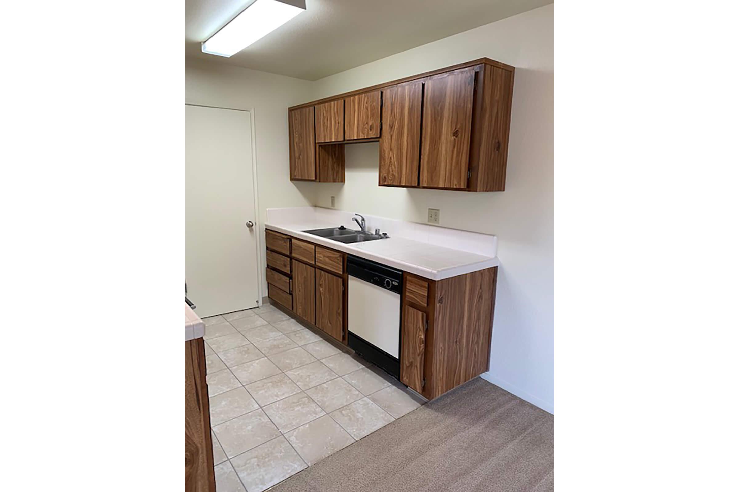
M 290 181 L 287 108 L 312 97 L 308 80 L 268 74 L 204 60 L 185 60 L 185 103 L 254 110 L 259 231 L 264 245 L 266 209 L 313 204 L 314 183 Z M 262 266 L 265 266 L 262 247 Z M 265 268 L 262 291 L 267 295 Z

